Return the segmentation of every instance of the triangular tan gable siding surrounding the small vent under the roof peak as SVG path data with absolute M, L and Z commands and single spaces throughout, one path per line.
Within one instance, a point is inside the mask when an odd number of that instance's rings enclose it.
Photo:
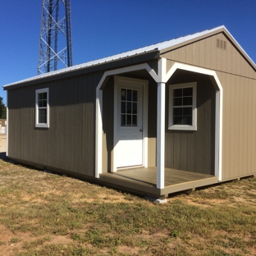
M 226 41 L 226 50 L 217 48 L 217 39 Z M 175 62 L 202 66 L 214 71 L 256 78 L 252 66 L 222 33 L 162 53 L 161 57 L 166 57 L 168 60 Z

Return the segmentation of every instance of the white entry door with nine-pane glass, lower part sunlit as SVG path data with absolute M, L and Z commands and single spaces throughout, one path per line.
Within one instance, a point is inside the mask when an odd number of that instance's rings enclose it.
M 142 165 L 143 85 L 118 81 L 116 107 L 116 167 Z

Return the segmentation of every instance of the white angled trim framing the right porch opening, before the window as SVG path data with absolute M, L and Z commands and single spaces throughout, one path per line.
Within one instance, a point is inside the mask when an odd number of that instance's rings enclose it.
M 215 176 L 218 176 L 218 181 L 222 181 L 222 104 L 223 104 L 223 89 L 220 80 L 217 77 L 215 71 L 208 70 L 198 66 L 190 66 L 182 63 L 175 63 L 171 66 L 170 71 L 167 72 L 165 76 L 165 82 L 171 78 L 171 75 L 177 69 L 191 71 L 203 75 L 209 75 L 213 77 L 213 80 L 216 82 L 217 90 L 216 90 L 216 110 L 215 110 Z

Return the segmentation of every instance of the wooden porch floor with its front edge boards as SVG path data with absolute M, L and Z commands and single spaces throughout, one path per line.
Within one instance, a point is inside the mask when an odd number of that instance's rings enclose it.
M 116 188 L 154 197 L 167 196 L 178 191 L 191 190 L 218 182 L 217 176 L 165 168 L 165 187 L 160 190 L 156 187 L 156 167 L 138 167 L 107 172 L 100 175 L 99 181 Z

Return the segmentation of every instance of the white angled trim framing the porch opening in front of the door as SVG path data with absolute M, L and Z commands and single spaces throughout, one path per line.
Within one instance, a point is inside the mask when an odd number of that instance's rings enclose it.
M 96 88 L 96 138 L 95 138 L 95 177 L 98 178 L 103 170 L 103 91 L 102 86 L 107 76 L 124 74 L 130 71 L 146 70 L 149 75 L 153 77 L 153 80 L 158 81 L 158 75 L 149 66 L 149 64 L 139 64 L 135 66 L 127 66 L 123 68 L 118 68 L 111 71 L 105 71 L 103 77 L 99 81 Z M 148 142 L 145 142 L 148 143 Z M 145 145 L 145 144 L 144 144 Z

